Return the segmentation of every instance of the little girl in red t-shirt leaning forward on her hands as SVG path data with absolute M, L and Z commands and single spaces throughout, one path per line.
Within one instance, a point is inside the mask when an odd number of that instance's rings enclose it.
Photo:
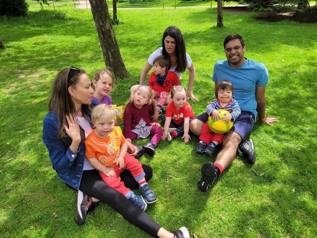
M 171 102 L 166 109 L 166 115 L 162 116 L 164 132 L 162 140 L 167 138 L 171 141 L 178 135 L 183 135 L 182 139 L 187 143 L 189 136 L 189 123 L 195 117 L 191 105 L 189 105 L 188 95 L 183 86 L 173 86 L 171 89 Z

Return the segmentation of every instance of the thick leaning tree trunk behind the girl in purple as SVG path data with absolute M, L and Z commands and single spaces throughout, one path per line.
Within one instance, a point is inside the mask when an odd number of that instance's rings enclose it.
M 103 58 L 107 66 L 120 78 L 129 77 L 126 66 L 122 61 L 116 36 L 114 35 L 111 17 L 105 0 L 89 0 L 94 17 Z

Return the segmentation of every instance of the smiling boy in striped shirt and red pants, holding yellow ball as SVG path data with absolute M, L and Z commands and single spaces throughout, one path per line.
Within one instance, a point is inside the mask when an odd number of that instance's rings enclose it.
M 217 85 L 217 99 L 207 105 L 207 113 L 212 119 L 221 120 L 225 123 L 235 121 L 241 114 L 241 109 L 236 100 L 232 99 L 233 85 L 229 80 L 222 80 Z M 217 109 L 227 110 L 224 117 L 220 117 Z M 203 126 L 199 137 L 196 153 L 206 153 L 212 155 L 212 152 L 222 142 L 224 134 L 218 134 L 210 130 L 208 122 Z

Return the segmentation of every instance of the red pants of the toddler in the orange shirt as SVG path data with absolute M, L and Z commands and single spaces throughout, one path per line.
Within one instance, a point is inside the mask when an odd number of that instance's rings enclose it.
M 99 174 L 100 174 L 102 180 L 109 187 L 114 188 L 115 190 L 117 190 L 118 192 L 122 193 L 123 195 L 126 195 L 127 192 L 130 191 L 130 189 L 126 188 L 126 186 L 124 186 L 124 183 L 121 181 L 121 178 L 119 176 L 120 173 L 124 169 L 128 169 L 128 170 L 130 170 L 132 176 L 134 178 L 136 178 L 139 175 L 141 175 L 142 173 L 144 173 L 144 171 L 142 169 L 141 163 L 136 158 L 134 158 L 133 156 L 129 155 L 128 153 L 126 153 L 126 156 L 124 157 L 124 164 L 125 165 L 124 165 L 123 169 L 119 169 L 119 164 L 118 165 L 114 165 L 113 167 L 111 167 L 111 168 L 114 169 L 114 171 L 116 171 L 116 173 L 117 173 L 116 176 L 107 176 L 101 171 L 99 171 Z

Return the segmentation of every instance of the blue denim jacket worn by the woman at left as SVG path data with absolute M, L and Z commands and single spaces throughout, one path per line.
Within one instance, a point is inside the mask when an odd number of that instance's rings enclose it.
M 87 105 L 85 110 L 90 117 L 90 110 Z M 90 127 L 93 124 L 89 122 Z M 75 189 L 79 189 L 81 175 L 84 167 L 85 159 L 85 132 L 81 129 L 81 142 L 78 151 L 72 151 L 69 146 L 72 142 L 71 138 L 66 134 L 66 141 L 63 142 L 57 138 L 61 124 L 57 120 L 54 112 L 49 112 L 43 121 L 43 142 L 49 150 L 49 158 L 52 162 L 53 169 L 57 172 L 58 177 L 65 183 Z

